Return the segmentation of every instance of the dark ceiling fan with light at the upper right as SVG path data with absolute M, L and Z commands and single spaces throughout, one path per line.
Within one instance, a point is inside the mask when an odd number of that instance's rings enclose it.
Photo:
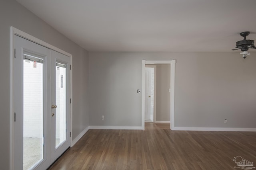
M 232 50 L 241 49 L 242 52 L 240 54 L 243 55 L 244 59 L 247 57 L 247 55 L 250 55 L 250 53 L 248 53 L 248 49 L 256 49 L 256 47 L 254 46 L 254 40 L 246 39 L 246 36 L 249 34 L 250 34 L 249 31 L 240 33 L 240 35 L 244 37 L 244 39 L 237 41 L 236 47 L 235 47 L 236 49 L 232 49 Z

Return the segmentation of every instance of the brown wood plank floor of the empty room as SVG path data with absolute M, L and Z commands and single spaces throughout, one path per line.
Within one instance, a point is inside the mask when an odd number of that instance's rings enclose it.
M 145 130 L 88 130 L 50 170 L 235 170 L 235 156 L 256 165 L 256 132 L 145 123 Z

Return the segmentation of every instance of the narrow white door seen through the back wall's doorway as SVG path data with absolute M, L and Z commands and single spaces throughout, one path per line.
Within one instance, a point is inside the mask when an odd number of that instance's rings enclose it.
M 145 121 L 150 120 L 151 114 L 151 68 L 145 68 Z

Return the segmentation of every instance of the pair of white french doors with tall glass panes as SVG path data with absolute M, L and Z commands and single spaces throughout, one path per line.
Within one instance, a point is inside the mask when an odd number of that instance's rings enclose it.
M 44 170 L 70 146 L 70 58 L 14 41 L 14 169 Z

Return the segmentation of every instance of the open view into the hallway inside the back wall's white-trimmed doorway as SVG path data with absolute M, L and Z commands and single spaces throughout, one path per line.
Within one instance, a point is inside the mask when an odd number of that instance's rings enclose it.
M 145 65 L 145 122 L 170 123 L 170 64 Z

